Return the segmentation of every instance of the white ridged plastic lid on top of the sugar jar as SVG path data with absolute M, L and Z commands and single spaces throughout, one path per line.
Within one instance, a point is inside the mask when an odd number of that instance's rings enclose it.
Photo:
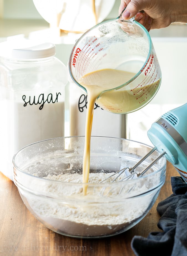
M 0 43 L 0 56 L 9 59 L 40 59 L 55 55 L 53 43 L 37 44 L 30 40 L 19 42 L 5 41 Z

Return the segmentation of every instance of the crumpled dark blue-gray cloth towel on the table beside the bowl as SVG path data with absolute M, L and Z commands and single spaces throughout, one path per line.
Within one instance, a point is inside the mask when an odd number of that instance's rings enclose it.
M 158 203 L 158 228 L 147 238 L 134 236 L 131 248 L 137 256 L 187 256 L 187 184 L 171 177 L 173 194 Z

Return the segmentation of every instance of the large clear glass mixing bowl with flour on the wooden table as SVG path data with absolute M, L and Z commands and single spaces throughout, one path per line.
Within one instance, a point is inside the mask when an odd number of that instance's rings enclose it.
M 77 238 L 117 235 L 152 208 L 165 182 L 166 159 L 162 157 L 142 177 L 98 182 L 107 173 L 133 166 L 150 149 L 126 139 L 91 137 L 90 181 L 83 196 L 84 137 L 36 142 L 13 157 L 14 183 L 30 212 L 54 232 Z M 158 154 L 148 157 L 139 171 Z

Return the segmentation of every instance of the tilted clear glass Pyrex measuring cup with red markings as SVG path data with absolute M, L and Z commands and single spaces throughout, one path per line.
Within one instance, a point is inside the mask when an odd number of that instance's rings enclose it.
M 132 72 L 128 80 L 124 77 L 117 86 L 114 82 L 114 87 L 104 90 L 96 100 L 102 109 L 113 113 L 130 113 L 144 107 L 160 87 L 162 74 L 150 35 L 134 18 L 123 20 L 120 15 L 104 21 L 75 43 L 69 70 L 78 86 L 86 92 L 80 78 L 102 69 Z

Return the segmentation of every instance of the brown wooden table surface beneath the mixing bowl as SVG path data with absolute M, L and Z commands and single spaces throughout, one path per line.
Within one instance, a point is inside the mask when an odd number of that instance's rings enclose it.
M 1 256 L 134 256 L 130 242 L 134 235 L 147 237 L 157 227 L 159 201 L 172 194 L 171 176 L 179 176 L 167 163 L 166 181 L 150 212 L 135 227 L 113 237 L 78 239 L 65 237 L 44 227 L 27 210 L 17 187 L 0 173 L 0 255 Z

